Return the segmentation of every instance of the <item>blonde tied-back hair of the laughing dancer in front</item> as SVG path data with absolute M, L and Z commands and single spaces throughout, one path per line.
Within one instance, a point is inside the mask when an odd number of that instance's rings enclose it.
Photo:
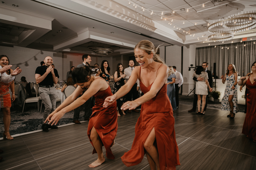
M 159 46 L 160 46 L 160 45 L 159 45 Z M 159 46 L 158 46 L 158 47 L 159 47 Z M 154 44 L 153 44 L 151 41 L 148 41 L 148 40 L 141 40 L 141 41 L 135 46 L 134 49 L 139 48 L 139 49 L 144 50 L 144 51 L 145 51 L 146 53 L 148 53 L 148 54 L 153 54 L 153 60 L 154 60 L 155 62 L 157 62 L 157 63 L 162 63 L 162 64 L 166 65 L 165 62 L 164 62 L 164 60 L 163 60 L 162 58 L 160 58 L 159 55 L 156 54 L 158 47 L 155 48 Z M 167 66 L 167 65 L 166 65 L 166 66 Z M 167 66 L 167 67 L 168 67 L 168 66 Z M 168 67 L 168 69 L 169 69 L 169 67 Z M 169 72 L 168 72 L 168 73 L 170 74 L 170 69 L 169 69 Z

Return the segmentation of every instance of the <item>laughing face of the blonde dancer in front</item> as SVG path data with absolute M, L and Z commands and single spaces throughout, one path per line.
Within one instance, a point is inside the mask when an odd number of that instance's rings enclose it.
M 148 64 L 153 62 L 153 53 L 148 54 L 147 52 L 145 52 L 140 48 L 134 49 L 134 56 L 142 69 L 146 68 Z

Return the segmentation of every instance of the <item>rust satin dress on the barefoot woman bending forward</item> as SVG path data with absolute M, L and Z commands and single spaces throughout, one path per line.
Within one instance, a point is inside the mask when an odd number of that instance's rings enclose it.
M 108 96 L 112 95 L 109 86 L 106 90 L 98 91 L 93 95 L 95 97 L 95 106 L 92 107 L 92 116 L 90 117 L 87 130 L 87 135 L 92 144 L 90 136 L 92 127 L 94 126 L 106 149 L 106 156 L 108 159 L 115 159 L 115 156 L 110 149 L 110 145 L 113 143 L 117 132 L 117 110 L 116 101 L 107 108 L 103 107 L 103 103 Z M 94 153 L 97 152 L 93 147 L 92 154 Z

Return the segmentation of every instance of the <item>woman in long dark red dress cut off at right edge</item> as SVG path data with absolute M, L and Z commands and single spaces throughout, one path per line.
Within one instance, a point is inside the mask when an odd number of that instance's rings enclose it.
M 252 73 L 246 77 L 241 77 L 238 85 L 246 85 L 247 91 L 247 111 L 244 120 L 242 133 L 256 143 L 256 62 L 252 64 Z

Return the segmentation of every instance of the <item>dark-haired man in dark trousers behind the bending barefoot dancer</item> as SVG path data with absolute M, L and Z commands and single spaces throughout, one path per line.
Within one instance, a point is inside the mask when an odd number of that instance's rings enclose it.
M 79 67 L 84 67 L 85 65 L 88 64 L 91 64 L 91 57 L 90 55 L 83 55 L 82 56 L 82 60 L 83 60 L 83 63 L 82 64 L 79 64 L 77 65 L 77 68 Z M 85 121 L 89 121 L 90 117 L 91 117 L 91 102 L 92 102 L 92 98 L 88 99 L 85 104 L 84 104 L 84 120 Z M 73 122 L 76 123 L 76 124 L 80 124 L 81 122 L 79 122 L 79 114 L 80 114 L 80 108 L 81 106 L 77 107 L 74 111 L 74 116 L 73 116 Z

